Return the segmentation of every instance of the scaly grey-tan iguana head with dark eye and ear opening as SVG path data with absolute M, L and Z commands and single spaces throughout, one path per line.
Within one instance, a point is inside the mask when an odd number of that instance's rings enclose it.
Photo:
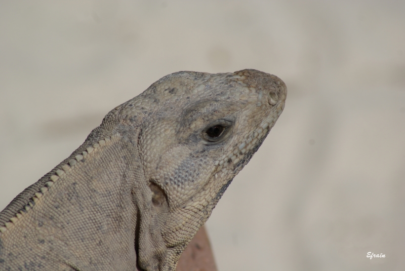
M 167 247 L 184 247 L 205 223 L 286 96 L 284 82 L 258 70 L 180 71 L 115 108 L 139 125 L 143 174 Z

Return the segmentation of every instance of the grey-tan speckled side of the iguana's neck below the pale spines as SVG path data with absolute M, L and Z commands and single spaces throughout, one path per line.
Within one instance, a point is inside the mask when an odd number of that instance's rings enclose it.
M 145 194 L 139 186 L 146 182 L 140 179 L 142 168 L 133 138 L 136 131 L 104 137 L 59 165 L 56 174 L 49 176 L 45 186 L 3 227 L 4 237 L 13 235 L 5 242 L 24 244 L 25 248 L 19 248 L 21 253 L 26 249 L 24 253 L 48 251 L 50 258 L 77 269 L 96 270 L 122 257 L 125 259 L 118 262 L 136 266 L 140 206 L 134 199 L 139 201 L 139 194 Z M 16 242 L 24 236 L 37 238 L 28 239 L 30 243 Z M 103 255 L 106 251 L 108 255 Z

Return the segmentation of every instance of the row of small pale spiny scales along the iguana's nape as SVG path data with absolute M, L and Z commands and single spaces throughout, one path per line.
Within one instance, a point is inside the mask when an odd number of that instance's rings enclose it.
M 45 183 L 45 186 L 41 187 L 39 191 L 35 193 L 35 196 L 33 196 L 28 201 L 27 204 L 15 216 L 10 218 L 10 221 L 6 222 L 5 226 L 0 227 L 0 235 L 2 235 L 7 229 L 11 228 L 18 221 L 18 219 L 20 219 L 24 214 L 26 214 L 30 209 L 32 209 L 32 207 L 34 207 L 34 205 L 38 202 L 38 200 L 44 195 L 46 191 L 48 191 L 48 189 L 59 179 L 60 176 L 69 171 L 77 162 L 85 159 L 95 149 L 105 145 L 110 140 L 111 138 L 106 137 L 105 139 L 102 139 L 97 143 L 94 143 L 93 146 L 86 148 L 86 150 L 83 151 L 82 154 L 77 154 L 74 157 L 74 159 L 70 159 L 68 164 L 62 166 L 62 169 L 57 169 L 56 175 L 52 175 L 50 177 L 50 180 Z

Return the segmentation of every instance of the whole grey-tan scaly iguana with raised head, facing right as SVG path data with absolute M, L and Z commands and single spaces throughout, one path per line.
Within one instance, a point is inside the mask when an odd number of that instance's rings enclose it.
M 0 213 L 0 269 L 174 270 L 286 96 L 253 69 L 161 78 Z

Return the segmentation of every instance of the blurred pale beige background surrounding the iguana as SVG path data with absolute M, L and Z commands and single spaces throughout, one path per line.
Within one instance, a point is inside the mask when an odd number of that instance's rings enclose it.
M 404 14 L 400 0 L 2 1 L 0 208 L 162 76 L 255 68 L 289 94 L 207 222 L 219 270 L 404 270 Z

